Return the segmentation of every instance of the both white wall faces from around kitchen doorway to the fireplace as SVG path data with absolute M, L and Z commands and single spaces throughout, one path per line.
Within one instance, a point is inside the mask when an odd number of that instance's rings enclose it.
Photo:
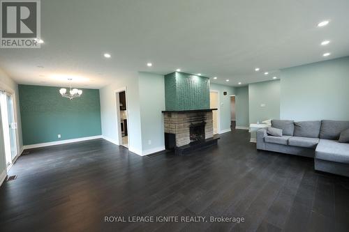
M 102 135 L 119 144 L 119 123 L 115 91 L 126 87 L 128 111 L 128 149 L 138 155 L 147 155 L 165 149 L 163 115 L 165 84 L 163 75 L 131 72 L 115 78 L 100 89 Z

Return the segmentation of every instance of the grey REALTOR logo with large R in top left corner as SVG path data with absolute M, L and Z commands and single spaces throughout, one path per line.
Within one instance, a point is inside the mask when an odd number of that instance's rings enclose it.
M 0 47 L 40 48 L 40 0 L 3 0 L 0 6 Z

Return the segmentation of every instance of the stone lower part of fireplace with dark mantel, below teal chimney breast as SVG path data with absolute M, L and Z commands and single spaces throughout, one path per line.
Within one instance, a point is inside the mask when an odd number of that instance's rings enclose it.
M 165 146 L 177 149 L 190 144 L 205 145 L 207 139 L 214 137 L 212 110 L 214 109 L 163 111 L 167 138 Z M 201 132 L 202 134 L 198 134 Z M 171 138 L 172 142 L 168 141 L 168 138 Z

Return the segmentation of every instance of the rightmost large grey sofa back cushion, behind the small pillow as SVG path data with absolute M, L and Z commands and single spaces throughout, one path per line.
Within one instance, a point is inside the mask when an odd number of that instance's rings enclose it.
M 338 140 L 343 130 L 349 128 L 349 121 L 322 120 L 320 139 Z

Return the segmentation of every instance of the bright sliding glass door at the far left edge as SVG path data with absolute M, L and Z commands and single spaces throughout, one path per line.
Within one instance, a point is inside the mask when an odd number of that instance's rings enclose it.
M 6 158 L 6 167 L 9 169 L 13 159 L 17 156 L 17 142 L 15 111 L 13 109 L 13 97 L 10 93 L 0 91 L 1 129 L 3 131 L 3 146 Z

